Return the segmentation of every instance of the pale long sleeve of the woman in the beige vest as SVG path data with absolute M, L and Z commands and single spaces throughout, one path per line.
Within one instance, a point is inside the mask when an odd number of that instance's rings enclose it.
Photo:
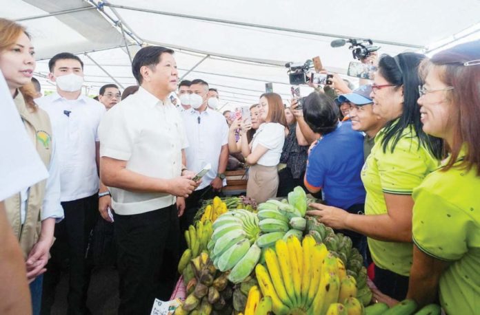
M 55 218 L 57 222 L 63 219 L 63 208 L 60 204 L 60 167 L 57 158 L 57 150 L 55 149 L 55 133 L 52 131 L 52 158 L 50 158 L 50 166 L 48 167 L 48 178 L 45 186 L 45 197 L 41 207 L 40 219 Z

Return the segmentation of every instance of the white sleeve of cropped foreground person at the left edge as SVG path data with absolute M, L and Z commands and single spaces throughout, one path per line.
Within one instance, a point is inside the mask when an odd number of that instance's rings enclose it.
M 48 177 L 0 71 L 0 201 Z

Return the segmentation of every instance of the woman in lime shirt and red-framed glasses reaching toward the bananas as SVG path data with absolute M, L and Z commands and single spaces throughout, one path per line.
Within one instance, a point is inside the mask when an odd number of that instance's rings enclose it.
M 373 112 L 388 120 L 361 171 L 366 215 L 315 204 L 311 214 L 332 228 L 368 237 L 374 283 L 397 300 L 406 297 L 412 266 L 412 191 L 439 164 L 441 141 L 421 129 L 418 85 L 421 54 L 381 56 L 370 97 Z

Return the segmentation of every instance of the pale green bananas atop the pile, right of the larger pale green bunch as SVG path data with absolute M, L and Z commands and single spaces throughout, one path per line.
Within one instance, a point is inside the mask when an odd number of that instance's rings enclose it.
M 307 196 L 299 186 L 288 193 L 288 200 L 268 200 L 258 207 L 259 226 L 263 233 L 257 240 L 260 248 L 273 246 L 279 239 L 294 235 L 302 239 L 306 228 Z

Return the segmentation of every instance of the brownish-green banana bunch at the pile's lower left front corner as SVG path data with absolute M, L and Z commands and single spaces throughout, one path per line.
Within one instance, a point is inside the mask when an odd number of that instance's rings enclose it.
M 187 283 L 186 300 L 174 314 L 232 314 L 232 287 L 228 285 L 228 274 L 218 272 L 206 252 L 190 263 L 194 277 Z

